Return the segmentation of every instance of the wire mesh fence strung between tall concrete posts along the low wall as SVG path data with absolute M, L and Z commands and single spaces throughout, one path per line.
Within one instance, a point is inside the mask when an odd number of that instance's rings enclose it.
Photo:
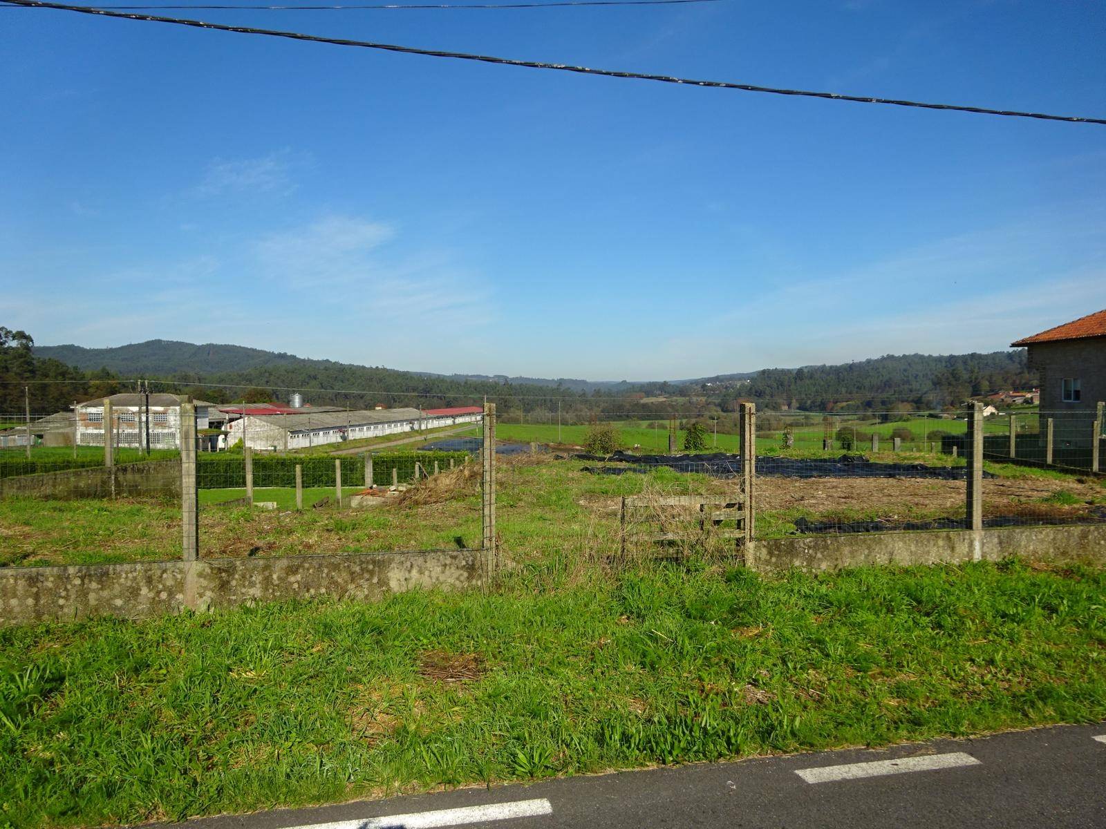
M 181 401 L 132 397 L 0 417 L 0 565 L 180 555 Z M 978 510 L 974 410 L 759 412 L 748 463 L 740 412 L 509 414 L 495 419 L 489 515 L 482 407 L 352 402 L 195 402 L 199 557 L 741 555 L 749 476 L 759 539 L 1106 522 L 1100 407 L 980 407 Z

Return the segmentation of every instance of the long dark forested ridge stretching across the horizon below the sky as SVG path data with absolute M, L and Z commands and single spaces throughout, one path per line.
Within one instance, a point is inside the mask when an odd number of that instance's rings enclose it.
M 25 367 L 30 365 L 29 343 L 22 348 L 19 365 Z M 76 380 L 82 371 L 95 372 L 84 376 L 97 380 L 145 377 L 159 381 L 159 390 L 185 391 L 213 402 L 280 400 L 293 389 L 315 405 L 352 407 L 458 406 L 479 402 L 487 396 L 503 414 L 555 412 L 560 406 L 565 414 L 574 410 L 576 417 L 585 419 L 592 412 L 649 419 L 676 413 L 702 416 L 732 411 L 739 399 L 755 400 L 764 410 L 887 410 L 896 403 L 932 409 L 959 406 L 969 397 L 990 391 L 1036 384 L 1022 350 L 885 356 L 836 366 L 768 368 L 751 375 L 639 384 L 444 376 L 306 359 L 234 345 L 160 339 L 118 348 L 34 346 L 33 354 L 36 365 L 52 377 Z M 66 366 L 76 371 L 66 374 Z M 13 388 L 8 389 L 11 399 L 2 402 L 18 411 Z M 102 387 L 96 388 L 98 392 Z M 82 393 L 70 386 L 53 391 L 48 393 L 46 387 L 40 387 L 40 406 L 32 407 L 49 411 L 59 405 L 67 406 Z

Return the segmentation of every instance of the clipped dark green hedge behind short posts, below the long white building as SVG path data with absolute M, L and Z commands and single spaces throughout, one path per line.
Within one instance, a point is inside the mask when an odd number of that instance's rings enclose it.
M 449 462 L 465 463 L 468 452 L 374 452 L 373 483 L 390 484 L 392 470 L 397 471 L 400 482 L 415 476 L 415 463 L 427 472 L 434 471 L 434 462 L 439 469 L 448 469 Z M 295 486 L 295 468 L 303 466 L 304 486 L 334 486 L 334 458 L 327 455 L 253 455 L 254 486 Z M 365 485 L 365 461 L 363 455 L 345 455 L 342 459 L 343 486 Z M 198 486 L 201 490 L 240 489 L 246 486 L 246 459 L 240 454 L 201 453 L 196 469 Z

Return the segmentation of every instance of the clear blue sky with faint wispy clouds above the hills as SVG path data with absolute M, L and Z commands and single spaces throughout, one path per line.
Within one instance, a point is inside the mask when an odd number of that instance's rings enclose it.
M 188 12 L 166 12 L 188 17 Z M 1106 115 L 1099 2 L 205 11 Z M 0 9 L 0 324 L 431 371 L 962 353 L 1106 307 L 1106 127 Z

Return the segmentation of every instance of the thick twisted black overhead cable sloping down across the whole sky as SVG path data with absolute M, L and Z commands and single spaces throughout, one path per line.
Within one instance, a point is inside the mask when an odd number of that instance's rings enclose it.
M 450 57 L 460 61 L 479 61 L 481 63 L 501 64 L 505 66 L 523 66 L 526 69 L 554 70 L 557 72 L 575 72 L 584 75 L 603 75 L 606 77 L 624 77 L 634 81 L 656 81 L 659 83 L 684 84 L 687 86 L 705 86 L 721 90 L 739 90 L 742 92 L 762 92 L 772 95 L 795 95 L 800 97 L 826 98 L 828 101 L 852 101 L 858 104 L 888 104 L 891 106 L 909 106 L 922 109 L 948 109 L 962 113 L 975 113 L 978 115 L 1003 115 L 1014 118 L 1037 118 L 1040 120 L 1064 120 L 1079 124 L 1100 124 L 1106 126 L 1106 118 L 1089 118 L 1071 115 L 1050 115 L 1046 113 L 1019 112 L 1015 109 L 992 109 L 983 106 L 961 106 L 957 104 L 932 104 L 920 101 L 900 101 L 896 98 L 878 98 L 863 95 L 839 95 L 833 92 L 812 92 L 808 90 L 785 90 L 774 86 L 757 86 L 753 84 L 731 83 L 729 81 L 697 81 L 687 77 L 675 77 L 672 75 L 655 75 L 644 72 L 619 72 L 615 70 L 588 69 L 586 66 L 573 66 L 564 63 L 545 63 L 541 61 L 520 61 L 511 57 L 494 57 L 492 55 L 471 54 L 468 52 L 447 52 L 437 49 L 418 49 L 416 46 L 403 46 L 394 43 L 374 43 L 363 40 L 347 40 L 345 38 L 325 38 L 317 34 L 303 34 L 301 32 L 286 32 L 275 29 L 254 29 L 252 27 L 227 25 L 226 23 L 207 23 L 200 20 L 187 20 L 184 18 L 166 18 L 156 14 L 135 14 L 124 11 L 109 11 L 88 6 L 67 6 L 65 3 L 45 2 L 45 0 L 0 0 L 0 2 L 12 6 L 25 6 L 36 9 L 56 9 L 60 11 L 75 11 L 83 14 L 98 14 L 107 18 L 122 18 L 124 20 L 140 20 L 152 23 L 174 23 L 176 25 L 188 25 L 196 29 L 212 29 L 220 32 L 236 32 L 238 34 L 262 34 L 270 38 L 286 38 L 289 40 L 302 40 L 311 43 L 330 43 L 336 46 L 358 46 L 361 49 L 376 49 L 385 52 L 399 52 L 403 54 L 420 54 L 428 57 Z

